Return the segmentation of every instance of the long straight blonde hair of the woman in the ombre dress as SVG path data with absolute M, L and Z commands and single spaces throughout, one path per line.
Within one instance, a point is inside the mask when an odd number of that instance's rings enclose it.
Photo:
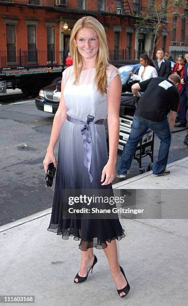
M 98 35 L 99 48 L 98 48 L 98 52 L 96 55 L 96 61 L 95 61 L 96 73 L 94 77 L 94 82 L 96 84 L 97 90 L 103 95 L 104 92 L 106 93 L 106 87 L 108 86 L 107 77 L 106 77 L 106 67 L 109 64 L 107 39 L 106 39 L 105 30 L 102 24 L 96 18 L 92 16 L 84 16 L 78 19 L 75 22 L 71 30 L 70 40 L 69 40 L 69 49 L 73 57 L 73 74 L 75 77 L 73 84 L 77 82 L 79 78 L 80 70 L 83 65 L 82 57 L 78 52 L 74 39 L 76 38 L 77 32 L 83 27 L 92 28 L 93 30 L 96 31 Z M 79 63 L 81 64 L 80 68 L 78 67 Z

